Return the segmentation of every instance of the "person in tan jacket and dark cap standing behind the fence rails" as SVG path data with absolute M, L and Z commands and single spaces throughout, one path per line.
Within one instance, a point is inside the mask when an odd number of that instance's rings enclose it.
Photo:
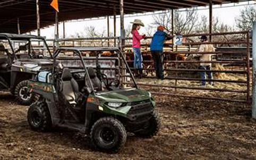
M 202 35 L 202 37 L 200 38 L 202 42 L 208 42 L 207 41 L 207 37 L 206 35 Z M 215 52 L 215 48 L 213 45 L 211 44 L 202 44 L 200 45 L 199 52 Z M 200 55 L 200 61 L 211 61 L 212 60 L 212 56 L 215 54 L 199 54 Z M 200 67 L 199 69 L 201 70 L 206 70 L 208 72 L 200 72 L 201 75 L 201 79 L 202 79 L 202 86 L 206 86 L 206 75 L 208 75 L 208 79 L 209 79 L 209 85 L 213 85 L 212 83 L 212 72 L 209 72 L 209 70 L 211 70 L 211 63 L 200 63 Z

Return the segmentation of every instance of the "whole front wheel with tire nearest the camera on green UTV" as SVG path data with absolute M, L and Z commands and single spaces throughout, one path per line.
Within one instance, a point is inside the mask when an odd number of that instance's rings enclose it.
M 101 118 L 91 129 L 91 140 L 95 148 L 110 153 L 119 152 L 126 141 L 123 124 L 112 117 Z

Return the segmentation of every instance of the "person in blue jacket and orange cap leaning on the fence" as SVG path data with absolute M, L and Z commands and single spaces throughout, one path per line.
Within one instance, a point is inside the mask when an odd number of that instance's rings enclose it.
M 172 39 L 172 35 L 170 35 L 169 31 L 167 31 L 164 26 L 158 26 L 157 32 L 153 35 L 150 45 L 150 50 L 156 70 L 156 77 L 158 79 L 164 79 L 163 49 L 166 39 Z

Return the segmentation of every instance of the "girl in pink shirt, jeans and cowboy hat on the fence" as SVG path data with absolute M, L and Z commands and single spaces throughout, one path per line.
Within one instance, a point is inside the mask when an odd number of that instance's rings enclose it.
M 132 47 L 134 52 L 134 73 L 135 76 L 139 76 L 142 78 L 143 76 L 146 76 L 142 72 L 142 55 L 141 55 L 141 44 L 140 40 L 144 39 L 146 35 L 140 35 L 138 30 L 140 30 L 140 26 L 144 26 L 144 24 L 141 22 L 141 20 L 134 20 L 132 25 Z M 139 73 L 138 73 L 139 70 Z

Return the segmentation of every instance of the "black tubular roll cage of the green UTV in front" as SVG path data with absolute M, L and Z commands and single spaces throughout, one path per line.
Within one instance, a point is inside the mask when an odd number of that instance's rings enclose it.
M 138 85 L 136 84 L 136 81 L 135 81 L 135 78 L 132 74 L 132 71 L 131 71 L 129 65 L 127 64 L 127 61 L 125 60 L 125 56 L 119 48 L 115 48 L 115 47 L 61 47 L 61 48 L 57 48 L 57 50 L 54 52 L 54 55 L 53 55 L 54 66 L 57 65 L 57 60 L 56 59 L 57 59 L 59 53 L 62 52 L 62 51 L 64 51 L 64 52 L 65 51 L 73 51 L 74 54 L 76 54 L 76 56 L 78 56 L 80 58 L 80 60 L 82 61 L 82 66 L 83 66 L 84 72 L 85 72 L 84 76 L 86 76 L 87 77 L 86 79 L 89 81 L 89 87 L 90 87 L 93 95 L 96 95 L 96 93 L 93 89 L 93 85 L 92 85 L 92 82 L 91 82 L 91 79 L 90 79 L 90 76 L 89 76 L 89 73 L 88 73 L 88 69 L 87 69 L 86 63 L 84 62 L 84 58 L 82 56 L 82 53 L 81 53 L 83 51 L 115 51 L 117 54 L 120 55 L 120 57 L 118 56 L 120 58 L 120 60 L 124 62 L 126 70 L 129 72 L 129 74 L 132 78 L 132 81 L 134 83 L 134 87 L 138 88 Z M 99 54 L 97 54 L 96 58 L 98 58 L 98 56 L 99 56 Z M 118 66 L 118 67 L 120 67 L 120 69 L 122 68 L 122 66 Z

